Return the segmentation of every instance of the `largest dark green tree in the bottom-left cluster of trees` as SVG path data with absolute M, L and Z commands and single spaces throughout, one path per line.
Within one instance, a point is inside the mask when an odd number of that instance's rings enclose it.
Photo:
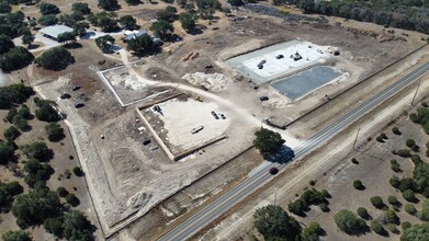
M 21 228 L 42 225 L 46 218 L 55 218 L 63 214 L 64 207 L 58 195 L 47 188 L 30 191 L 16 197 L 12 214 Z

